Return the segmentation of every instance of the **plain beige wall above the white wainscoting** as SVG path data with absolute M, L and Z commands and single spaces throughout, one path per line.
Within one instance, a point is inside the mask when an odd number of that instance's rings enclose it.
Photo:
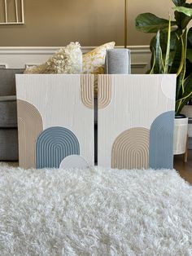
M 168 18 L 171 0 L 129 0 L 129 45 L 149 45 L 151 35 L 137 32 L 142 12 Z M 79 41 L 97 46 L 124 44 L 124 0 L 24 0 L 24 25 L 1 25 L 0 46 L 64 46 Z

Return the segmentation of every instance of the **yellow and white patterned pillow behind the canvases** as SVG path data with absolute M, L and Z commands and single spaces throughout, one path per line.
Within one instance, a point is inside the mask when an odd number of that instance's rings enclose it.
M 104 73 L 106 52 L 109 49 L 113 49 L 115 45 L 116 42 L 108 42 L 83 55 L 83 73 Z

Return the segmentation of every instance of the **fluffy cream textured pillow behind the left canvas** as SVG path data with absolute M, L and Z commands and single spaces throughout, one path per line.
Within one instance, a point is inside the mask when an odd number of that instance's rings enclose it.
M 82 52 L 79 42 L 55 52 L 44 64 L 26 68 L 24 73 L 82 73 Z

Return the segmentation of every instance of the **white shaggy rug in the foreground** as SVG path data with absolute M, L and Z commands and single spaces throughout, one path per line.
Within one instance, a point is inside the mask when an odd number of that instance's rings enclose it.
M 175 170 L 0 167 L 0 254 L 192 255 L 192 187 Z

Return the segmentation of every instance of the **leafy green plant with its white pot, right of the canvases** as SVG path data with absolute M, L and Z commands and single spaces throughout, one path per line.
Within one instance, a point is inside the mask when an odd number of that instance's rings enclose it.
M 177 73 L 174 154 L 186 152 L 188 117 L 182 109 L 192 98 L 192 3 L 172 0 L 175 20 L 161 19 L 151 13 L 137 16 L 136 28 L 156 33 L 151 39 L 151 69 L 148 73 Z

